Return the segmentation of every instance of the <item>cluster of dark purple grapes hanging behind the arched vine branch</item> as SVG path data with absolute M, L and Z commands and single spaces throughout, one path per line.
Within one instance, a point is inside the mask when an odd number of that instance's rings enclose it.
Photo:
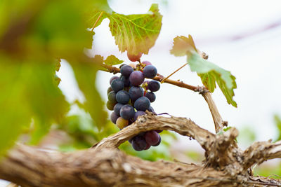
M 122 64 L 121 76 L 110 78 L 110 88 L 107 90 L 107 109 L 113 111 L 110 119 L 119 129 L 131 125 L 138 116 L 145 115 L 148 110 L 154 114 L 155 111 L 150 103 L 156 99 L 155 93 L 160 89 L 157 81 L 145 81 L 145 78 L 154 78 L 157 75 L 156 67 L 148 61 L 136 64 Z M 150 146 L 158 146 L 162 131 L 152 130 L 142 132 L 129 140 L 136 151 L 143 151 Z

